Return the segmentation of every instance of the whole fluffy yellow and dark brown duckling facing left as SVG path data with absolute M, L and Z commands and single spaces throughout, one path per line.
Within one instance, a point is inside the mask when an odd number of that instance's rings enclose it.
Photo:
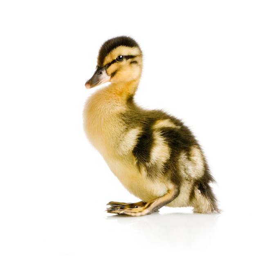
M 87 89 L 101 86 L 86 101 L 83 126 L 112 173 L 140 202 L 109 202 L 107 212 L 144 216 L 161 207 L 193 207 L 219 213 L 215 182 L 198 141 L 182 121 L 160 110 L 137 106 L 134 95 L 142 52 L 131 37 L 101 46 Z

